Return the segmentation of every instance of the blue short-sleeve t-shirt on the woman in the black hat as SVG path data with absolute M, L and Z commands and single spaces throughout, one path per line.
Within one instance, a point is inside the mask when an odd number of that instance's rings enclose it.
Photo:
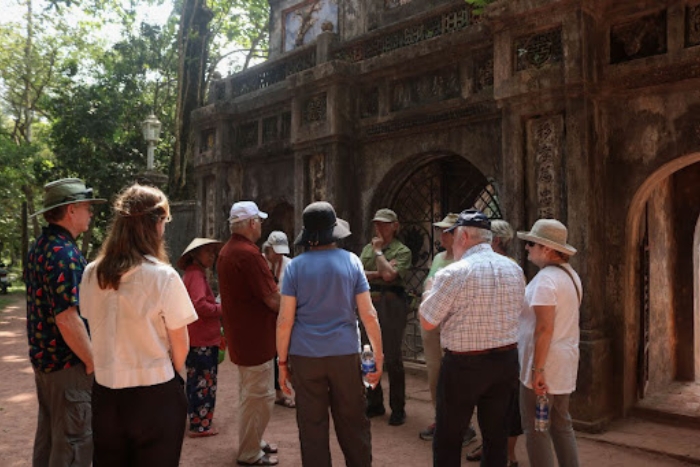
M 296 297 L 289 354 L 330 357 L 360 352 L 355 313 L 369 290 L 360 259 L 345 250 L 307 251 L 287 266 L 282 294 Z

